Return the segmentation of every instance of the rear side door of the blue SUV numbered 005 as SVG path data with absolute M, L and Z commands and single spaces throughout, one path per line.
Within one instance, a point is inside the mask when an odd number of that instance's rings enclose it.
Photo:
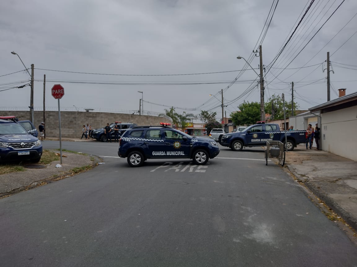
M 164 138 L 161 134 L 161 129 L 149 129 L 144 136 L 144 149 L 148 158 L 165 158 L 166 151 L 164 147 Z

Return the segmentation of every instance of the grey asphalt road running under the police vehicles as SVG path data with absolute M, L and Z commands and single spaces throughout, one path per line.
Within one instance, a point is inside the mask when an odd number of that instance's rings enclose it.
M 62 142 L 105 164 L 0 200 L 0 266 L 357 266 L 357 247 L 260 148 L 131 168 L 117 147 Z

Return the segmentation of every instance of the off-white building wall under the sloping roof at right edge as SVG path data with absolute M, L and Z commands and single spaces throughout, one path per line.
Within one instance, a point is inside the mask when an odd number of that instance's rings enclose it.
M 321 114 L 322 150 L 357 161 L 357 106 Z

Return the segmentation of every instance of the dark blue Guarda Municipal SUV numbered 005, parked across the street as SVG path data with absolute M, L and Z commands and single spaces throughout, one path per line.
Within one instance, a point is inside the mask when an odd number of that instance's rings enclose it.
M 220 153 L 217 143 L 208 138 L 192 137 L 161 123 L 160 126 L 136 126 L 119 141 L 118 155 L 131 167 L 140 167 L 148 158 L 191 158 L 203 165 Z

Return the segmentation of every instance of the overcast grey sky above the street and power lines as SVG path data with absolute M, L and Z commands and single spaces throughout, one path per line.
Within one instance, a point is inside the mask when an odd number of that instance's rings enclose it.
M 1 1 L 0 106 L 30 104 L 30 87 L 13 88 L 29 83 L 15 51 L 35 66 L 35 110 L 46 74 L 46 109 L 56 110 L 50 89 L 61 84 L 62 110 L 135 112 L 143 96 L 144 114 L 173 106 L 219 119 L 221 89 L 227 116 L 243 101 L 260 102 L 256 73 L 236 57 L 259 73 L 252 51 L 261 44 L 265 101 L 282 93 L 290 101 L 294 82 L 294 100 L 308 109 L 327 101 L 327 52 L 331 100 L 340 88 L 357 91 L 356 12 L 356 0 Z

